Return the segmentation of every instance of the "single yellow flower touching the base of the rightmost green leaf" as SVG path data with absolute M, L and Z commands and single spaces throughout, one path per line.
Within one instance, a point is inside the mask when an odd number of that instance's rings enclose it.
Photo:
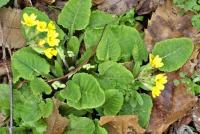
M 159 55 L 154 56 L 150 54 L 149 62 L 150 62 L 151 67 L 153 68 L 160 68 L 164 65 L 162 62 L 162 58 L 160 58 Z

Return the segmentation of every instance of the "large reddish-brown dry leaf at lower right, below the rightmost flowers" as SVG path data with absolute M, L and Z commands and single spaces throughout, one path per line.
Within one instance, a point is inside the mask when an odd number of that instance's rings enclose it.
M 154 100 L 154 107 L 147 132 L 162 134 L 172 123 L 185 116 L 192 109 L 197 97 L 189 94 L 186 86 L 174 86 L 173 80 L 179 79 L 179 72 L 168 73 L 170 80 L 161 95 Z

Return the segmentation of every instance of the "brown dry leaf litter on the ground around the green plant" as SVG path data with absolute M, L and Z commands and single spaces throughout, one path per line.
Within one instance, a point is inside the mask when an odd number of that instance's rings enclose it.
M 55 1 L 46 0 L 45 2 L 52 4 Z M 152 50 L 156 42 L 165 39 L 176 37 L 193 39 L 196 46 L 190 60 L 178 71 L 167 74 L 170 81 L 161 95 L 153 102 L 151 119 L 146 131 L 152 134 L 164 133 L 171 124 L 183 119 L 194 107 L 191 116 L 194 126 L 200 132 L 198 98 L 188 94 L 185 84 L 176 86 L 173 83 L 173 80 L 181 79 L 179 73 L 182 71 L 192 75 L 194 71 L 198 72 L 200 70 L 199 30 L 192 27 L 191 17 L 193 13 L 187 12 L 185 15 L 180 16 L 178 14 L 179 9 L 173 7 L 170 0 L 167 0 L 167 2 L 163 0 L 93 0 L 93 3 L 99 10 L 117 15 L 123 14 L 131 8 L 135 8 L 138 15 L 145 15 L 155 11 L 152 13 L 144 34 L 148 51 Z M 41 3 L 37 4 L 42 10 L 49 12 L 46 6 L 41 6 Z M 7 47 L 13 49 L 21 48 L 25 44 L 25 40 L 20 33 L 20 12 L 20 10 L 11 8 L 0 9 L 4 43 Z M 56 20 L 58 13 L 49 14 L 52 14 L 52 18 Z M 61 134 L 64 132 L 65 127 L 68 126 L 68 119 L 59 114 L 59 106 L 60 102 L 54 100 L 54 111 L 47 119 L 48 128 L 46 134 Z M 3 120 L 4 117 L 0 114 L 0 123 Z M 145 131 L 139 126 L 137 116 L 103 116 L 100 118 L 99 123 L 101 126 L 108 124 L 110 134 L 142 134 Z

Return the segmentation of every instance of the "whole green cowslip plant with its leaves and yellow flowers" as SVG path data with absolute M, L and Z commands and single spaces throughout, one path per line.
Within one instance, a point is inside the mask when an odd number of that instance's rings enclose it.
M 67 134 L 106 134 L 98 123 L 106 115 L 136 115 L 146 128 L 166 73 L 192 54 L 188 38 L 157 42 L 148 54 L 137 29 L 91 6 L 91 0 L 69 0 L 57 23 L 35 8 L 23 10 L 27 46 L 12 56 L 16 131 L 45 133 L 53 99 L 62 102 L 59 112 L 69 119 Z M 0 89 L 0 112 L 9 118 L 8 85 Z

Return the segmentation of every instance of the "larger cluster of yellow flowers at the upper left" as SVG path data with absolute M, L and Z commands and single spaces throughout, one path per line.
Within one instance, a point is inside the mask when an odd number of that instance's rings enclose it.
M 56 32 L 56 26 L 53 21 L 50 21 L 48 24 L 45 21 L 37 20 L 35 14 L 28 15 L 27 13 L 23 14 L 23 21 L 21 22 L 24 26 L 34 27 L 36 32 L 35 34 L 45 33 L 45 37 L 38 38 L 37 36 L 36 44 L 38 47 L 43 48 L 43 53 L 49 58 L 52 59 L 53 56 L 57 55 L 56 46 L 59 45 L 60 40 L 58 39 L 59 34 Z

